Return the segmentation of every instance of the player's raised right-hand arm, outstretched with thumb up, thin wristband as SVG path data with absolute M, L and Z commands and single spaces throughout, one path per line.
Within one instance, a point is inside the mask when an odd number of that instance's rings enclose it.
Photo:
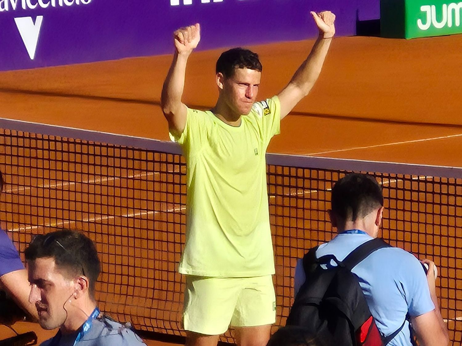
M 278 95 L 281 103 L 281 119 L 289 114 L 293 107 L 310 93 L 321 73 L 330 42 L 335 34 L 335 15 L 332 12 L 311 12 L 311 15 L 319 29 L 319 36 L 308 58 L 295 72 L 286 88 Z

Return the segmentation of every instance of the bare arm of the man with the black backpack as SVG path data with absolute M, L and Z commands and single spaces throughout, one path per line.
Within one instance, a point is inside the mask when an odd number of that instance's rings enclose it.
M 429 260 L 422 261 L 428 264 L 427 280 L 430 288 L 430 295 L 432 297 L 435 310 L 427 312 L 426 314 L 413 317 L 411 319 L 417 340 L 421 346 L 447 346 L 449 344 L 448 327 L 443 321 L 438 304 L 438 297 L 436 295 L 434 266 L 435 263 Z

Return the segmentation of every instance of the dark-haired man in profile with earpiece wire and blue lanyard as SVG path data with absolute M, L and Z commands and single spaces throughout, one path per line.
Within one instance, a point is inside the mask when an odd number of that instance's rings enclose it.
M 101 316 L 94 296 L 100 262 L 91 239 L 59 230 L 36 236 L 24 253 L 39 323 L 59 328 L 43 346 L 145 345 L 130 328 Z

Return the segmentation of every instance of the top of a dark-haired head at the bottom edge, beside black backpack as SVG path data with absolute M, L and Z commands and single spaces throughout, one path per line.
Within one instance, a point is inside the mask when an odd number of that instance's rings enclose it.
M 328 340 L 321 340 L 310 331 L 300 326 L 279 328 L 269 339 L 267 346 L 328 346 Z

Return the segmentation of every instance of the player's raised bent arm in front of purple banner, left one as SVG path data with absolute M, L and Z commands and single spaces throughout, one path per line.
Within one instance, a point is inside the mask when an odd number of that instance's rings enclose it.
M 161 107 L 169 123 L 170 132 L 181 135 L 186 126 L 187 108 L 181 101 L 186 74 L 186 63 L 201 40 L 199 24 L 176 30 L 173 34 L 175 55 L 162 89 Z

